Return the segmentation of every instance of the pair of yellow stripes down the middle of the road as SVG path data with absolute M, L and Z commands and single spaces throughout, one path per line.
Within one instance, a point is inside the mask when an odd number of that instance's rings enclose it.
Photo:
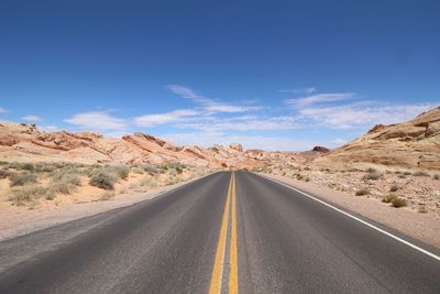
M 211 284 L 209 294 L 221 293 L 221 282 L 224 271 L 224 253 L 227 248 L 227 236 L 229 215 L 231 211 L 231 231 L 230 231 L 230 252 L 229 252 L 229 293 L 239 293 L 239 270 L 237 255 L 237 203 L 235 203 L 235 174 L 232 173 L 229 179 L 227 203 L 224 205 L 223 218 L 221 221 L 220 238 L 216 251 L 216 260 L 212 269 Z M 231 205 L 232 202 L 232 205 Z

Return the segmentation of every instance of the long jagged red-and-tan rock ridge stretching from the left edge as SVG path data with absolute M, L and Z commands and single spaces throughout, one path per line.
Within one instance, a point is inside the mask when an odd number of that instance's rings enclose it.
M 296 152 L 243 151 L 240 144 L 209 149 L 178 146 L 141 132 L 111 139 L 92 132 L 45 132 L 35 124 L 11 122 L 0 122 L 0 160 L 129 165 L 179 162 L 211 168 L 252 168 L 271 163 L 304 162 Z

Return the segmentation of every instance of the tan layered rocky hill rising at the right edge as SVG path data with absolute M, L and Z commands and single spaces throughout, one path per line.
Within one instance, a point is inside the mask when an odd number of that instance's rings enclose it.
M 440 107 L 404 123 L 376 124 L 315 163 L 375 163 L 440 170 Z

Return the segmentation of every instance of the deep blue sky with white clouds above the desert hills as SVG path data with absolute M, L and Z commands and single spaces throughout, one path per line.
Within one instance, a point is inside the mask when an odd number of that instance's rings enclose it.
M 307 150 L 440 105 L 439 1 L 1 1 L 0 120 Z

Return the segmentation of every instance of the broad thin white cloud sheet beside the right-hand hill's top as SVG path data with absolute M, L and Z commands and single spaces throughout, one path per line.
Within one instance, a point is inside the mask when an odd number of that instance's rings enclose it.
M 299 119 L 321 128 L 363 128 L 375 123 L 396 123 L 409 120 L 430 109 L 425 105 L 388 105 L 374 101 L 343 106 L 309 107 L 298 110 Z

